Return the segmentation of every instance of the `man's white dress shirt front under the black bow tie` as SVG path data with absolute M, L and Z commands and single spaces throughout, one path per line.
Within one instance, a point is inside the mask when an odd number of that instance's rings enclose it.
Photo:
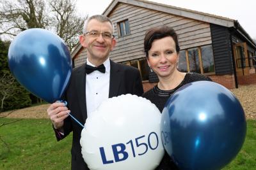
M 87 64 L 95 67 L 88 59 Z M 92 111 L 95 111 L 102 101 L 108 99 L 109 96 L 109 79 L 110 79 L 110 61 L 109 58 L 103 63 L 106 68 L 106 73 L 93 71 L 86 74 L 86 108 L 87 117 L 92 116 Z

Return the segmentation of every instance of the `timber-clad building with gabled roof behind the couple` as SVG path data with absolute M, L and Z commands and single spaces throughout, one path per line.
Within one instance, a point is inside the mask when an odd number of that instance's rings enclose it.
M 110 59 L 138 67 L 145 90 L 158 80 L 148 69 L 143 38 L 157 25 L 177 32 L 180 71 L 205 74 L 228 89 L 256 83 L 256 44 L 237 20 L 142 0 L 113 0 L 102 14 L 115 25 Z M 86 49 L 77 45 L 72 60 L 75 67 L 83 64 Z

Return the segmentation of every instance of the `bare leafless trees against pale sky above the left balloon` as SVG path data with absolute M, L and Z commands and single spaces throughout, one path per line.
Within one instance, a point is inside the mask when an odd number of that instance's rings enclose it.
M 0 0 L 0 35 L 42 28 L 56 32 L 72 50 L 82 33 L 84 17 L 76 14 L 75 0 Z

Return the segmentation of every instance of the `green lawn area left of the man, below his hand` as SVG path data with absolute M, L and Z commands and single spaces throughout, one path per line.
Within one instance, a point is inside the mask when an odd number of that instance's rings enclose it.
M 0 169 L 70 169 L 72 135 L 57 142 L 50 120 L 21 119 L 0 127 L 0 137 Z

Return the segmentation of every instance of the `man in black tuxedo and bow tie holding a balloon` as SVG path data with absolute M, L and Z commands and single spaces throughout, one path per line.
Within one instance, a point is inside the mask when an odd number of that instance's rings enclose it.
M 143 94 L 138 69 L 109 60 L 109 52 L 116 45 L 116 40 L 113 36 L 113 24 L 108 17 L 93 15 L 88 18 L 79 41 L 87 49 L 87 61 L 72 71 L 65 93 L 67 107 L 63 103 L 53 103 L 47 109 L 57 140 L 73 132 L 71 164 L 72 169 L 76 170 L 88 169 L 81 154 L 83 127 L 68 117 L 68 113 L 71 112 L 73 117 L 84 124 L 86 118 L 92 116 L 92 111 L 108 97 Z M 99 71 L 93 71 L 94 69 Z

